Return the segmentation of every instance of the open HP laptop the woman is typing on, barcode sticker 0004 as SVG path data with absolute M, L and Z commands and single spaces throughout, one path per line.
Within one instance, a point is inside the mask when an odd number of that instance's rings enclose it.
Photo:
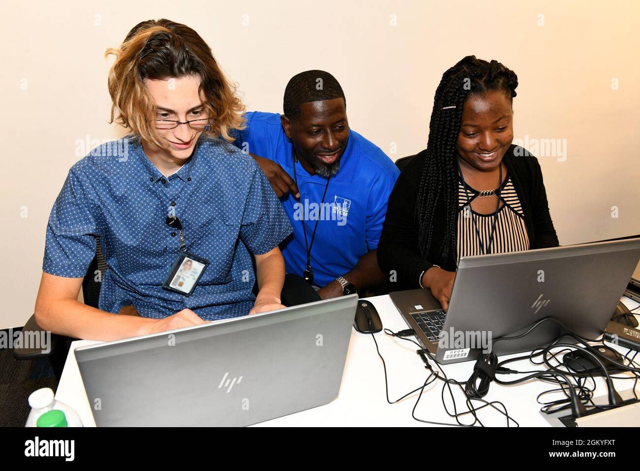
M 640 238 L 462 257 L 447 313 L 429 290 L 390 296 L 420 343 L 440 363 L 457 363 L 544 317 L 586 338 L 602 335 L 639 259 Z M 547 321 L 493 351 L 531 351 L 560 334 L 561 327 Z

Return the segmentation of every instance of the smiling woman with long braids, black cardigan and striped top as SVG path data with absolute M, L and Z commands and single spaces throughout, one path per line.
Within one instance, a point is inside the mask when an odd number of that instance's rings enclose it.
M 401 172 L 378 245 L 394 288 L 429 288 L 447 310 L 460 257 L 558 245 L 538 160 L 511 144 L 517 86 L 476 56 L 443 74 L 427 148 Z

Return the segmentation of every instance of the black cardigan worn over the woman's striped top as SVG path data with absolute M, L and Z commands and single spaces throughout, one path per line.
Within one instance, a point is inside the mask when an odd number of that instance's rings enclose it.
M 557 247 L 558 238 L 549 214 L 540 164 L 531 154 L 527 156 L 522 147 L 518 152 L 520 155 L 515 156 L 516 147 L 518 146 L 512 144 L 502 161 L 507 167 L 522 205 L 529 246 L 531 249 Z M 378 265 L 387 276 L 392 276 L 392 270 L 395 270 L 397 283 L 393 285 L 397 290 L 419 288 L 420 274 L 433 265 L 451 272 L 456 270 L 457 254 L 449 256 L 447 263 L 444 263 L 440 254 L 444 238 L 444 231 L 440 228 L 445 226 L 445 208 L 442 200 L 438 201 L 433 216 L 435 229 L 428 260 L 424 260 L 420 255 L 415 202 L 425 157 L 426 151 L 413 157 L 397 179 L 389 197 L 387 219 L 378 244 Z

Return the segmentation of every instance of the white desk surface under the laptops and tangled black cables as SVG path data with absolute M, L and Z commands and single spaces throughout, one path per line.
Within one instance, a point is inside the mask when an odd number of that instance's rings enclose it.
M 383 327 L 397 332 L 406 329 L 403 318 L 399 315 L 396 307 L 388 296 L 377 296 L 369 298 L 383 323 Z M 623 298 L 623 302 L 629 309 L 634 309 L 639 304 L 628 298 Z M 376 334 L 376 340 L 380 345 L 380 353 L 387 362 L 387 374 L 389 381 L 389 397 L 392 401 L 408 393 L 409 391 L 422 386 L 429 371 L 424 368 L 424 363 L 415 353 L 417 347 L 405 340 L 399 340 L 385 335 L 384 332 Z M 84 386 L 76 363 L 74 349 L 93 343 L 88 340 L 78 340 L 73 342 L 67 357 L 67 363 L 58 384 L 56 399 L 65 402 L 68 406 L 76 409 L 82 418 L 85 427 L 95 427 L 90 405 L 84 391 Z M 622 354 L 627 349 L 611 345 Z M 518 355 L 513 355 L 518 356 Z M 503 356 L 500 359 L 506 359 Z M 444 371 L 450 379 L 466 381 L 472 372 L 474 362 L 456 363 L 445 365 Z M 540 370 L 542 368 L 531 365 L 529 361 L 523 360 L 511 363 L 509 368 L 514 370 Z M 621 376 L 618 374 L 616 376 Z M 516 379 L 516 375 L 504 376 L 505 381 Z M 618 392 L 632 388 L 634 381 L 630 379 L 614 380 Z M 605 395 L 607 390 L 603 379 L 596 379 L 598 388 L 595 396 Z M 425 420 L 435 422 L 454 423 L 455 419 L 445 413 L 441 401 L 442 381 L 435 381 L 424 389 L 422 399 L 416 409 L 416 416 Z M 466 410 L 465 399 L 460 388 L 451 386 L 456 397 L 458 411 Z M 509 415 L 520 423 L 520 426 L 548 426 L 547 420 L 540 414 L 540 405 L 536 403 L 536 397 L 543 391 L 550 390 L 554 384 L 543 383 L 532 380 L 527 383 L 515 386 L 502 386 L 492 383 L 489 393 L 484 397 L 486 401 L 502 402 Z M 411 417 L 411 411 L 417 399 L 418 393 L 413 393 L 397 404 L 387 404 L 385 399 L 385 378 L 382 362 L 376 353 L 376 345 L 371 335 L 360 334 L 356 331 L 351 333 L 351 343 L 347 354 L 344 376 L 340 386 L 340 395 L 335 401 L 314 409 L 298 412 L 285 417 L 276 418 L 263 422 L 259 426 L 272 427 L 297 427 L 297 426 L 422 426 Z M 560 395 L 548 395 L 547 399 L 561 397 Z M 445 393 L 448 399 L 448 393 Z M 451 399 L 447 401 L 451 404 Z M 481 406 L 476 401 L 476 407 Z M 452 410 L 452 408 L 450 407 Z M 477 413 L 479 419 L 485 426 L 505 426 L 506 418 L 498 411 L 488 407 Z M 463 420 L 470 423 L 470 419 Z M 511 424 L 513 426 L 513 424 Z

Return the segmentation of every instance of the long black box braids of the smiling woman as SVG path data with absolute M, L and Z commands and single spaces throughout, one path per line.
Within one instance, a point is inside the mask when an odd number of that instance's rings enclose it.
M 433 215 L 438 201 L 445 205 L 442 258 L 456 258 L 458 224 L 458 167 L 456 143 L 462 121 L 462 107 L 471 94 L 503 91 L 513 99 L 518 77 L 500 62 L 467 56 L 442 74 L 433 99 L 429 140 L 415 205 L 418 240 L 422 258 L 428 260 L 433 240 Z

